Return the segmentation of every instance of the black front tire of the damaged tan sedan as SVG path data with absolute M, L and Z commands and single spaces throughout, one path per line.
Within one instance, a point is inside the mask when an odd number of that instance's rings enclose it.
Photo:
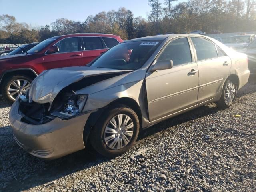
M 122 123 L 121 124 L 124 126 L 121 126 L 122 130 L 119 130 L 118 133 L 116 133 L 119 126 L 118 118 L 120 116 L 123 117 L 122 119 L 123 124 Z M 128 116 L 127 119 L 126 119 L 126 116 Z M 115 129 L 113 124 L 110 123 L 110 120 L 114 122 L 113 118 L 116 120 L 117 129 Z M 128 123 L 125 123 L 126 120 L 128 120 L 129 118 L 130 120 L 128 121 Z M 131 126 L 128 126 L 131 124 L 131 122 L 133 123 L 133 128 L 124 130 L 124 128 L 131 127 Z M 108 130 L 106 130 L 107 126 L 108 126 Z M 111 129 L 111 131 L 109 129 Z M 120 106 L 120 105 L 114 106 L 106 110 L 104 114 L 100 117 L 100 119 L 96 122 L 92 132 L 90 133 L 89 142 L 92 148 L 94 148 L 102 156 L 116 157 L 128 151 L 132 147 L 132 145 L 138 138 L 139 129 L 140 129 L 139 119 L 137 114 L 134 112 L 134 110 L 132 110 L 128 106 Z M 112 132 L 113 130 L 115 133 Z M 130 133 L 131 131 L 133 131 L 132 136 Z M 130 136 L 128 136 L 128 134 Z M 124 136 L 129 140 L 128 142 Z M 106 140 L 108 140 L 108 138 L 110 137 L 112 139 L 106 142 Z M 115 142 L 115 140 L 118 140 L 118 141 Z M 122 142 L 121 141 L 119 142 L 119 140 L 122 140 Z

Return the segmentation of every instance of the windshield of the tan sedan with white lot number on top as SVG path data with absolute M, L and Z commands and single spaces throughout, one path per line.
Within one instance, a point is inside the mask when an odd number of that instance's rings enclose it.
M 136 41 L 121 43 L 92 63 L 92 67 L 136 70 L 141 68 L 162 41 Z

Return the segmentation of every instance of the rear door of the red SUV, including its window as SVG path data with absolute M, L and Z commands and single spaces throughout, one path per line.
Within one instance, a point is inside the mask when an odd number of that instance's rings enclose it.
M 82 41 L 83 65 L 88 64 L 108 50 L 101 37 L 82 37 Z

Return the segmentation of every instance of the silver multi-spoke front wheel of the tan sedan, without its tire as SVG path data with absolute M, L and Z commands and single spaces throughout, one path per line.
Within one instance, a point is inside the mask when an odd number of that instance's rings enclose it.
M 134 124 L 125 114 L 114 116 L 104 130 L 104 141 L 112 150 L 124 148 L 132 139 Z

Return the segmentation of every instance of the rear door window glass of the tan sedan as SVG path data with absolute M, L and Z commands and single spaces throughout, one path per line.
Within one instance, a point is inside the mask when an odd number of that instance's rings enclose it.
M 215 45 L 209 40 L 200 37 L 192 37 L 191 40 L 196 48 L 198 61 L 218 57 Z

